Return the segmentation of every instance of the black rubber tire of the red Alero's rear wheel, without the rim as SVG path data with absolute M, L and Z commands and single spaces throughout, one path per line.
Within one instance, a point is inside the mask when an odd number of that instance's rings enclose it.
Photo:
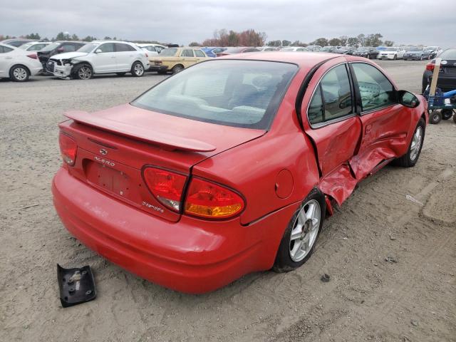
M 318 202 L 318 204 L 320 204 L 320 214 L 321 214 L 320 227 L 318 227 L 318 233 L 317 233 L 314 245 L 312 246 L 309 253 L 306 255 L 306 257 L 304 259 L 296 262 L 291 259 L 290 252 L 289 252 L 291 229 L 293 229 L 293 227 L 294 227 L 294 223 L 296 222 L 296 218 L 297 218 L 299 212 L 305 206 L 305 204 L 307 204 L 307 202 L 309 202 L 311 199 L 315 199 Z M 320 192 L 320 190 L 314 188 L 309 193 L 309 195 L 306 197 L 306 199 L 304 199 L 304 201 L 301 202 L 298 209 L 296 209 L 296 212 L 294 212 L 288 225 L 286 226 L 285 232 L 284 232 L 281 242 L 279 244 L 279 249 L 277 250 L 276 261 L 274 262 L 274 267 L 273 267 L 274 271 L 277 271 L 277 272 L 292 271 L 294 269 L 297 269 L 302 264 L 304 264 L 311 257 L 312 253 L 314 252 L 316 242 L 318 241 L 318 237 L 320 236 L 321 227 L 323 227 L 325 214 L 326 214 L 325 197 Z

